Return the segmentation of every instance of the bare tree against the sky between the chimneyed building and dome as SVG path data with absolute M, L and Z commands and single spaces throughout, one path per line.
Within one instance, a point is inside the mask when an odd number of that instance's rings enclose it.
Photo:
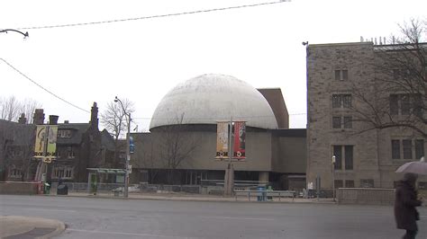
M 114 137 L 114 164 L 118 164 L 119 152 L 123 149 L 121 147 L 123 144 L 119 144 L 119 138 L 126 135 L 128 126 L 126 113 L 134 111 L 133 102 L 128 99 L 123 99 L 122 102 L 123 107 L 119 102 L 109 102 L 106 110 L 101 113 L 101 124 Z

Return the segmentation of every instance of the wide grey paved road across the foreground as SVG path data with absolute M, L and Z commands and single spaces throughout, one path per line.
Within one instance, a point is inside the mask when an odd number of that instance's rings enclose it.
M 0 214 L 45 217 L 59 238 L 400 238 L 392 207 L 0 195 Z M 427 208 L 417 238 L 427 238 Z

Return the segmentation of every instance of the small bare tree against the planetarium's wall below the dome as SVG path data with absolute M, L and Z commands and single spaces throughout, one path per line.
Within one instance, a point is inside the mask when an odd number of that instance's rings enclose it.
M 159 160 L 167 169 L 167 180 L 171 184 L 177 176 L 177 168 L 184 161 L 191 159 L 198 145 L 197 138 L 194 132 L 188 130 L 188 125 L 184 122 L 184 114 L 153 133 L 157 134 Z

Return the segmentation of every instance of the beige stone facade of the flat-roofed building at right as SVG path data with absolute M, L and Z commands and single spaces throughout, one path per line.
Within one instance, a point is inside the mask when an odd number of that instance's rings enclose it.
M 395 173 L 396 168 L 417 160 L 415 155 L 426 151 L 426 139 L 413 130 L 369 129 L 368 123 L 356 120 L 354 108 L 365 106 L 355 97 L 354 87 L 363 89 L 368 100 L 374 103 L 380 95 L 390 94 L 377 92 L 374 84 L 377 77 L 386 77 L 376 70 L 380 62 L 376 47 L 372 42 L 360 42 L 307 48 L 306 176 L 307 183 L 312 182 L 314 188 L 316 177 L 320 177 L 322 189 L 332 189 L 332 178 L 335 188 L 393 188 L 401 177 Z M 400 144 L 402 140 L 411 140 L 411 159 L 392 159 L 393 139 Z M 400 151 L 402 155 L 402 145 Z M 336 164 L 341 161 L 334 171 L 333 155 L 336 155 Z

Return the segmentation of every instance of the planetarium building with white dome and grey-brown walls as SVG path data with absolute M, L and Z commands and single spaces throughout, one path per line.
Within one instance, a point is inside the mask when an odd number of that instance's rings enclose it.
M 256 89 L 230 75 L 200 75 L 159 102 L 149 133 L 132 133 L 131 182 L 199 185 L 224 179 L 228 160 L 215 158 L 218 122 L 246 124 L 245 158 L 235 181 L 268 181 L 275 189 L 305 185 L 305 128 L 289 129 L 279 88 Z

